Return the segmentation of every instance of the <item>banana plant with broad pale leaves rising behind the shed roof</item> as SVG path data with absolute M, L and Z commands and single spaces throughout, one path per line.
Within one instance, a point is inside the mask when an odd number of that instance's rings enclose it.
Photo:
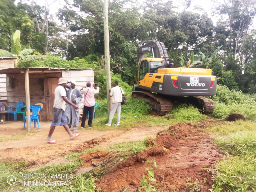
M 20 45 L 20 31 L 16 30 L 11 36 L 11 53 L 9 51 L 0 49 L 0 57 L 15 57 L 14 67 L 17 68 L 20 61 L 27 62 L 36 59 L 44 59 L 46 55 L 30 55 L 35 52 L 35 49 L 24 49 Z

